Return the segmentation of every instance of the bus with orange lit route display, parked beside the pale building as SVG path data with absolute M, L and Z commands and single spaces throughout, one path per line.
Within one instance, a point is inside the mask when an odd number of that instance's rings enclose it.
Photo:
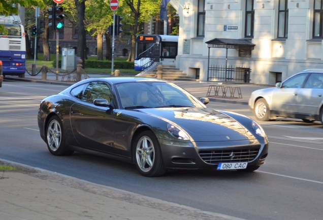
M 138 35 L 136 38 L 135 70 L 142 71 L 154 62 L 175 66 L 178 36 Z

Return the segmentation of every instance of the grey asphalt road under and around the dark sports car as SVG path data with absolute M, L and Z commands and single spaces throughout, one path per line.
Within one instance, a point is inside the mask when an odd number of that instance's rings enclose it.
M 82 153 L 53 156 L 39 135 L 38 106 L 66 86 L 5 81 L 0 89 L 0 158 L 204 211 L 245 219 L 321 219 L 323 136 L 319 122 L 261 123 L 269 136 L 266 164 L 253 173 L 175 171 L 141 176 L 134 165 Z M 253 116 L 246 105 L 209 107 Z

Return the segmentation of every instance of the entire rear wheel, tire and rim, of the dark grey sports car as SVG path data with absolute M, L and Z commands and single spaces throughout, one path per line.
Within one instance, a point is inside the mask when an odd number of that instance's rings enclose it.
M 63 126 L 58 116 L 50 118 L 46 129 L 48 150 L 55 156 L 71 155 L 73 151 L 66 150 Z

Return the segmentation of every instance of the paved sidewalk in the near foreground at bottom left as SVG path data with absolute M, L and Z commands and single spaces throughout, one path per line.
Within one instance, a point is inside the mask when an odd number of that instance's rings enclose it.
M 0 159 L 0 219 L 239 220 Z

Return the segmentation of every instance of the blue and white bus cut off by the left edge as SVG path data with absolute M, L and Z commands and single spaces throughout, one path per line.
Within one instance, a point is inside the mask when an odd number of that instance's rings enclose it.
M 0 60 L 3 75 L 22 75 L 26 72 L 25 31 L 19 16 L 0 16 L 8 34 L 0 32 Z

